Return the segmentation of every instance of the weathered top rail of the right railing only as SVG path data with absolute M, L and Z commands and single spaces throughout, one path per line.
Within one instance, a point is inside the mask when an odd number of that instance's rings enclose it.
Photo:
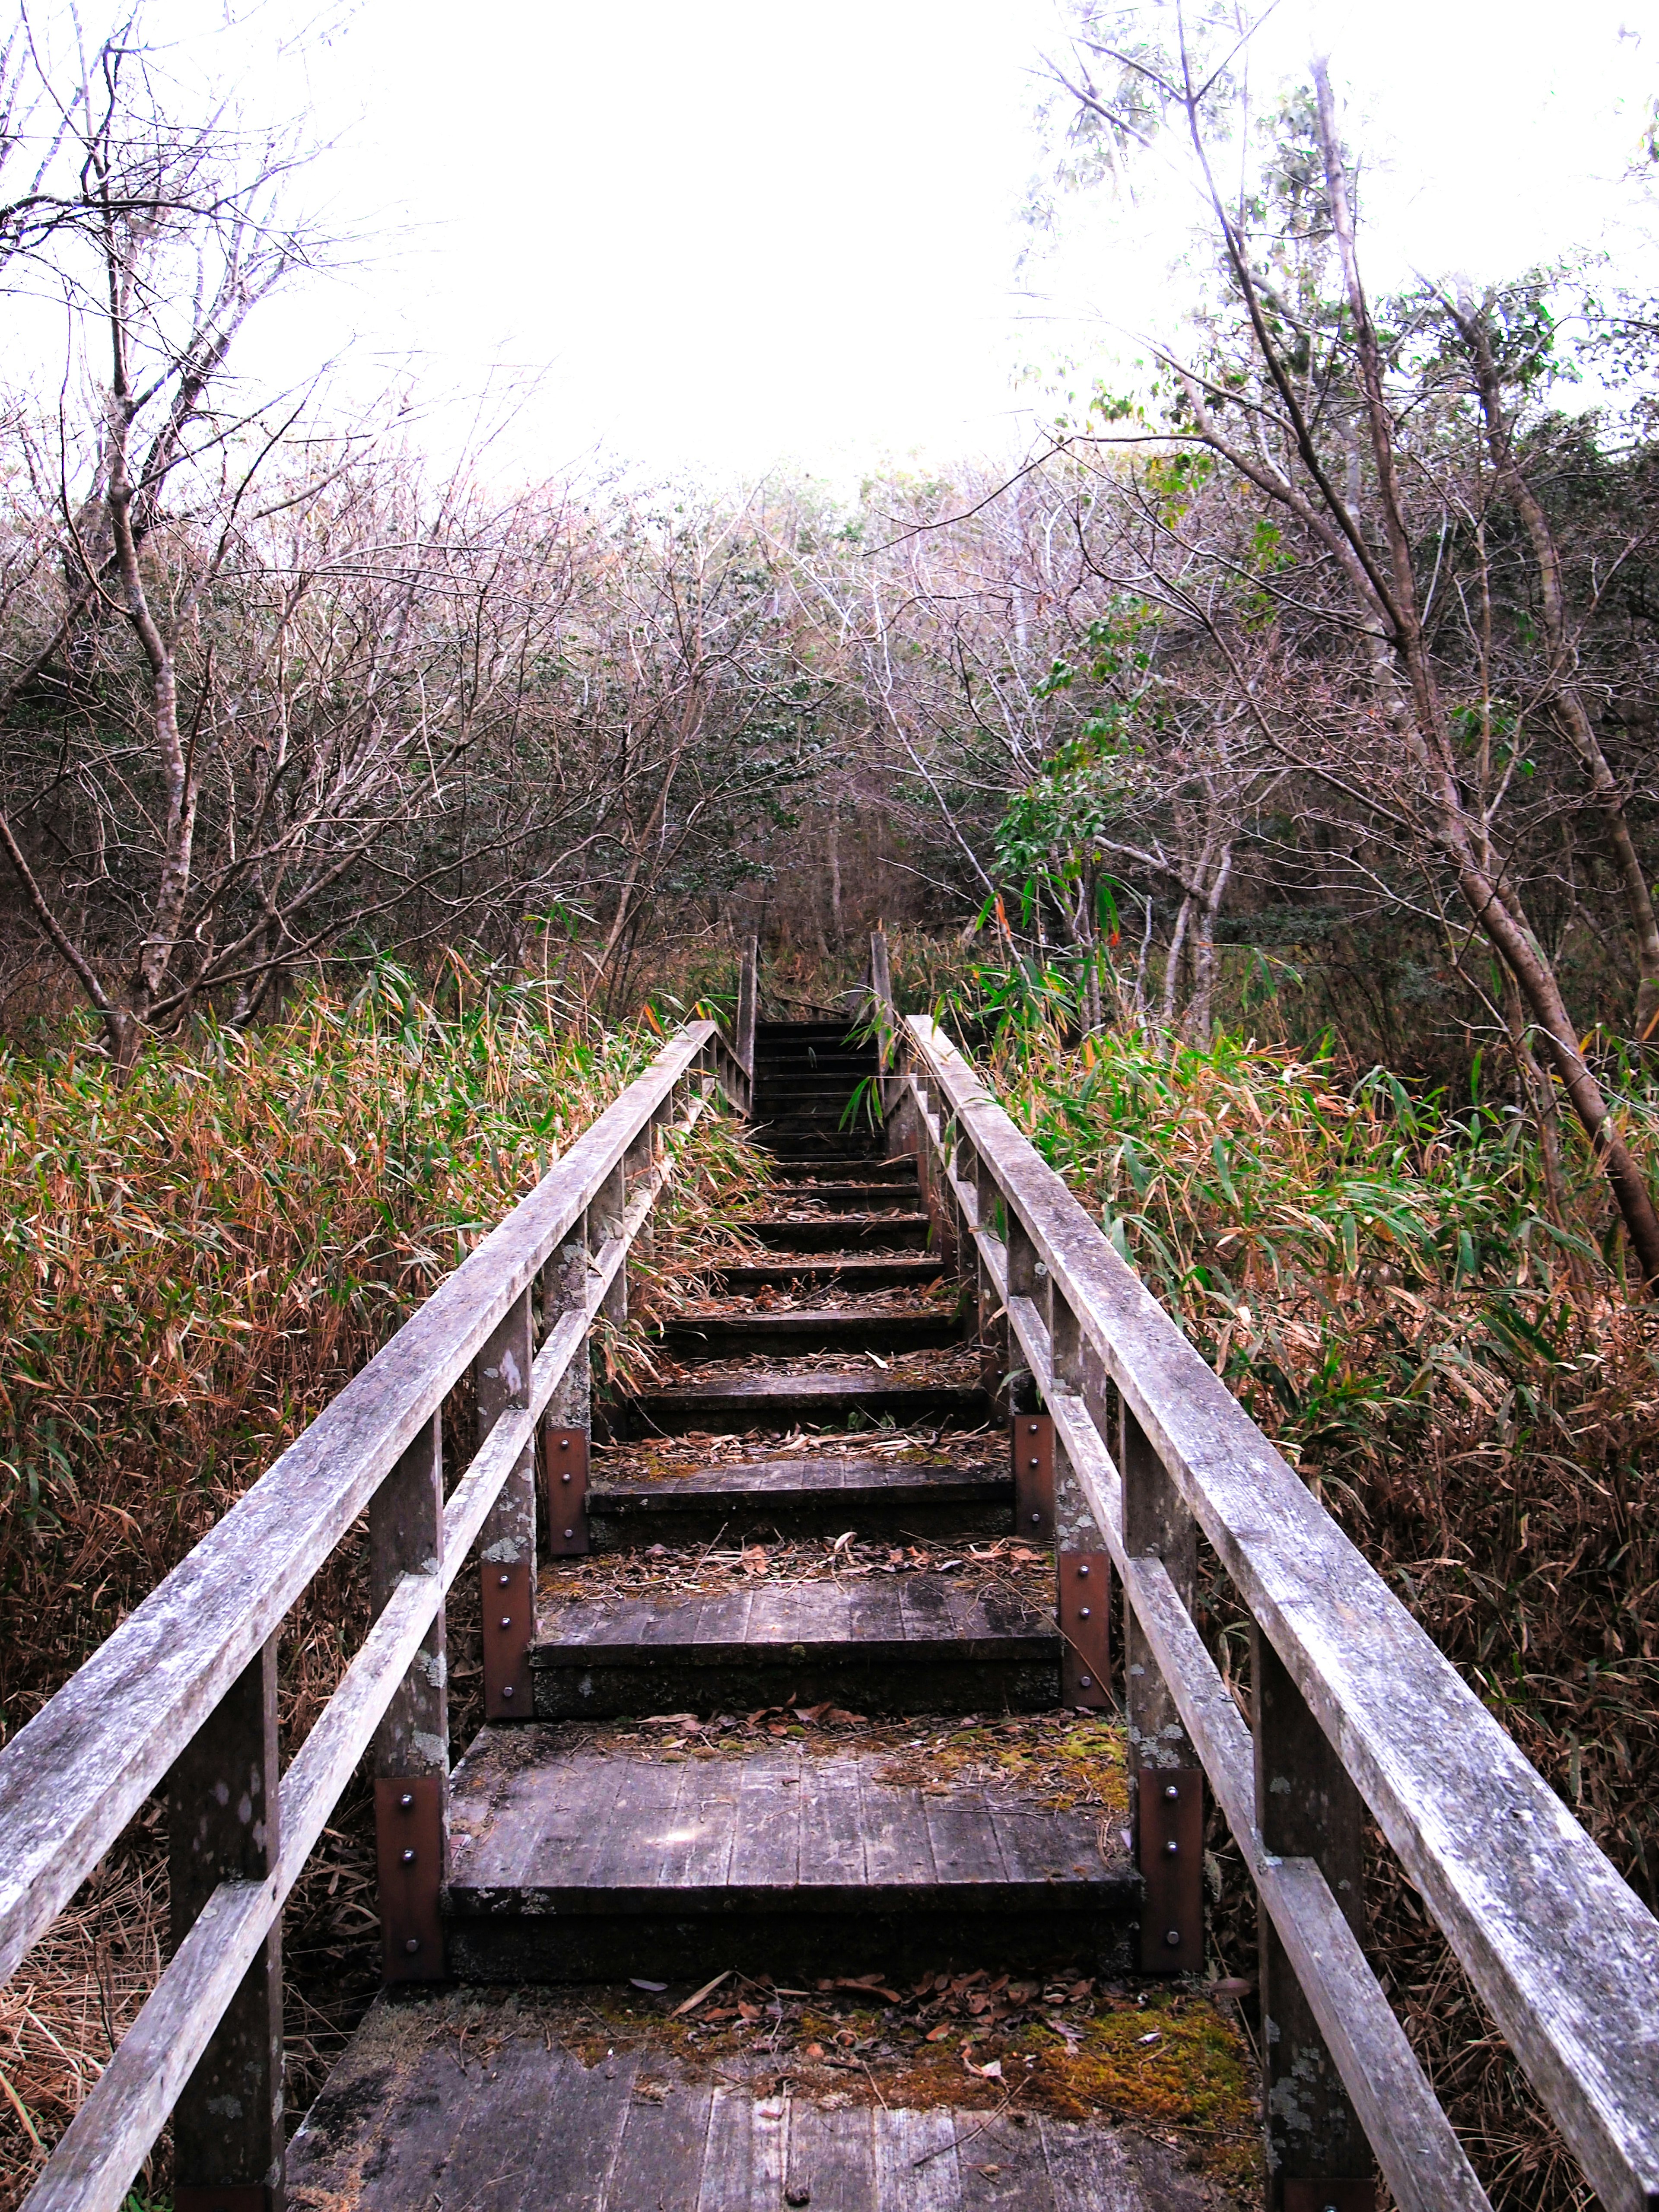
M 907 1033 L 1604 2203 L 1657 2203 L 1659 1922 L 962 1055 Z

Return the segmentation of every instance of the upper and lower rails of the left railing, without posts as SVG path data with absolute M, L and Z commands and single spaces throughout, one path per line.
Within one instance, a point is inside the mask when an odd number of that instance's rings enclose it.
M 526 1312 L 538 1274 L 573 1234 L 582 1239 L 577 1301 L 544 1316 L 544 1343 L 515 1402 L 495 1418 L 442 1509 L 438 1555 L 396 1579 L 281 1781 L 270 1871 L 221 1880 L 210 1893 L 35 2181 L 29 2212 L 122 2205 L 447 1588 L 504 1486 L 520 1480 L 544 1409 L 586 1354 L 593 1316 L 617 1298 L 628 1248 L 672 1172 L 666 1150 L 657 1157 L 657 1133 L 690 1133 L 714 1088 L 745 1099 L 726 1040 L 712 1022 L 692 1022 L 0 1750 L 4 1978 L 212 1721 L 480 1349 L 509 1314 Z M 677 1102 L 684 1113 L 670 1126 Z M 606 1194 L 619 1197 L 619 1208 L 608 1208 Z

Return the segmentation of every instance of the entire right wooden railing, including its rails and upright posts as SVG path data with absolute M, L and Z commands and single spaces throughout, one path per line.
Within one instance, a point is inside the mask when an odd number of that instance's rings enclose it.
M 962 1053 L 894 1033 L 889 1148 L 1031 1378 L 1015 1475 L 1026 1429 L 1053 1449 L 1062 1628 L 1091 1528 L 1121 1579 L 1141 1964 L 1201 1962 L 1199 1778 L 1256 1885 L 1270 2203 L 1369 2205 L 1374 2154 L 1407 2212 L 1486 2205 L 1365 1960 L 1369 1809 L 1601 2203 L 1659 2205 L 1659 1924 Z M 1254 1741 L 1192 1624 L 1199 1531 L 1254 1624 Z

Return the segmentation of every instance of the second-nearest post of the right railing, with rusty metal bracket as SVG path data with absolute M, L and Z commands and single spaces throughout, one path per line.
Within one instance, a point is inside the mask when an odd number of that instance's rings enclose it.
M 1161 1559 L 1192 1606 L 1199 1537 L 1186 1500 L 1139 1420 L 1119 1398 L 1117 1469 L 1124 1478 L 1124 1551 Z M 1124 1703 L 1135 1863 L 1146 1882 L 1141 1973 L 1203 1969 L 1203 1767 L 1192 1750 L 1135 1608 L 1124 1604 Z

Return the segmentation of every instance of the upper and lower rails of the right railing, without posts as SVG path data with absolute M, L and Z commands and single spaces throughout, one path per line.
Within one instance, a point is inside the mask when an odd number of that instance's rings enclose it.
M 1254 1759 L 1161 1559 L 1124 1535 L 1110 1383 L 1491 2006 L 1601 2203 L 1659 2205 L 1659 1922 L 1037 1157 L 971 1062 L 902 1024 L 905 1091 L 1004 1301 L 1128 1604 L 1402 2205 L 1484 2197 Z M 993 1219 L 1000 1210 L 1000 1221 Z M 1011 1276 L 1018 1228 L 1026 1285 Z M 1006 1234 L 1004 1234 L 1006 1230 Z

